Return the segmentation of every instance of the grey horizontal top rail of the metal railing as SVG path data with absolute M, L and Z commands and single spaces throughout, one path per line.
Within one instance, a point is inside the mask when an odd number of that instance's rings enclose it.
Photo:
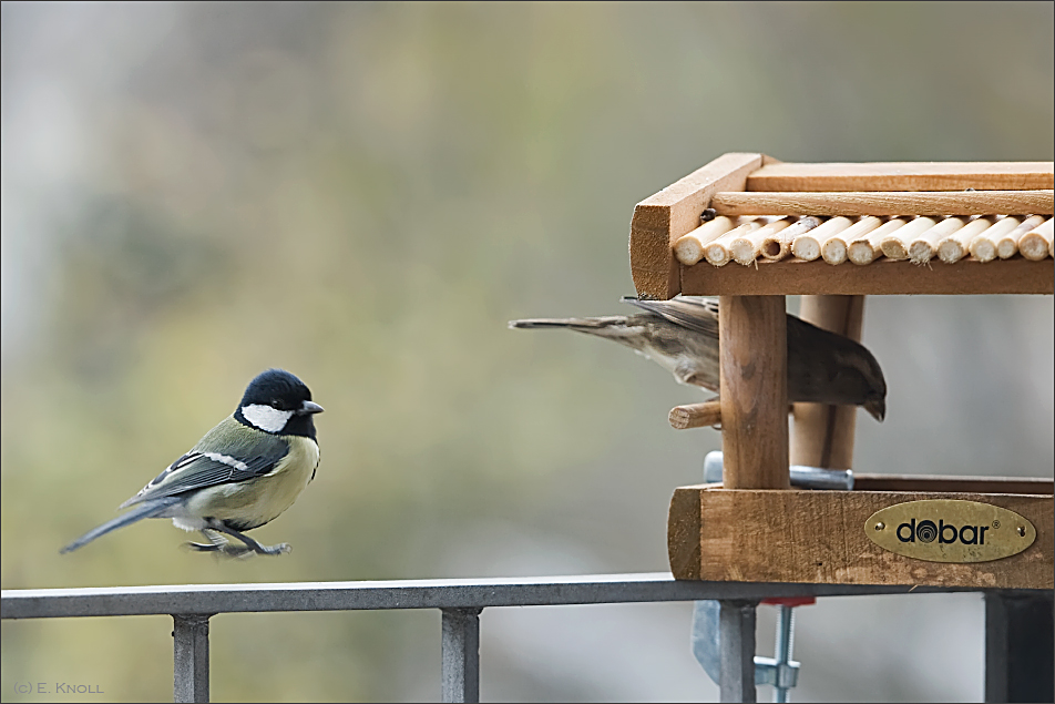
M 771 584 L 675 580 L 669 572 L 481 580 L 287 582 L 3 590 L 2 619 L 217 614 L 250 611 L 361 611 L 760 600 L 952 591 L 859 584 Z M 979 591 L 961 589 L 959 591 Z

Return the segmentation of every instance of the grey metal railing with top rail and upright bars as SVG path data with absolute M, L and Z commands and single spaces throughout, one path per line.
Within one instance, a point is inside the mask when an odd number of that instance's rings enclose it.
M 668 572 L 530 579 L 187 584 L 4 590 L 0 598 L 0 618 L 171 615 L 174 626 L 174 700 L 207 702 L 208 626 L 209 619 L 216 614 L 439 609 L 442 614 L 442 701 L 475 702 L 480 696 L 480 613 L 483 609 L 718 600 L 730 614 L 721 620 L 721 700 L 755 701 L 754 605 L 758 601 L 778 596 L 902 594 L 909 591 L 977 590 L 695 582 L 676 581 Z M 750 608 L 749 619 L 742 618 L 745 606 Z M 736 614 L 741 614 L 741 618 L 733 618 Z

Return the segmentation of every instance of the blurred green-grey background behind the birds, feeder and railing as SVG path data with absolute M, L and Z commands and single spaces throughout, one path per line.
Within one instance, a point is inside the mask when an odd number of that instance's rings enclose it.
M 700 396 L 506 320 L 627 312 L 634 205 L 725 152 L 1051 160 L 1052 22 L 1048 2 L 3 3 L 3 588 L 667 570 L 670 494 L 720 446 L 667 412 Z M 890 396 L 857 469 L 1052 476 L 1051 296 L 865 309 Z M 59 555 L 269 366 L 327 409 L 316 481 L 256 532 L 291 554 L 217 562 L 147 521 Z M 714 701 L 690 613 L 485 611 L 482 696 Z M 976 594 L 797 622 L 796 701 L 982 697 Z M 222 615 L 213 697 L 436 701 L 439 625 Z M 172 695 L 167 618 L 2 629 L 3 701 Z

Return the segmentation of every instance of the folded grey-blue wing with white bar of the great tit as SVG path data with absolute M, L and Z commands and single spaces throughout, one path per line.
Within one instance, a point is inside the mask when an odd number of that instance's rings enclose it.
M 264 477 L 289 453 L 280 437 L 226 418 L 121 508 L 195 489 Z

